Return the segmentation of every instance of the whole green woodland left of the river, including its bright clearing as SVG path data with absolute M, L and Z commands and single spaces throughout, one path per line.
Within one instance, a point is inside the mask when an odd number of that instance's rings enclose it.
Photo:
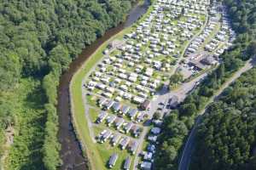
M 83 48 L 125 20 L 131 3 L 135 0 L 1 1 L 0 156 L 4 133 L 12 127 L 9 169 L 60 166 L 59 78 Z

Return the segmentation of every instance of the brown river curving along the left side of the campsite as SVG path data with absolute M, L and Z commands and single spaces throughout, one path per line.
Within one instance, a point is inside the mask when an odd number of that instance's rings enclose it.
M 75 59 L 69 66 L 69 70 L 61 76 L 60 85 L 58 88 L 58 105 L 57 111 L 59 115 L 60 130 L 58 138 L 61 143 L 61 159 L 63 161 L 61 170 L 86 170 L 87 159 L 82 156 L 82 151 L 79 147 L 79 141 L 73 132 L 73 126 L 71 123 L 71 113 L 69 109 L 69 82 L 73 77 L 73 74 L 78 71 L 79 67 L 83 65 L 84 61 L 93 54 L 98 47 L 106 42 L 110 37 L 122 31 L 125 27 L 131 26 L 136 22 L 143 14 L 146 13 L 148 6 L 150 5 L 149 0 L 145 0 L 143 5 L 136 5 L 131 9 L 129 16 L 125 23 L 110 29 L 101 38 L 98 38 L 96 42 L 85 48 L 82 54 Z

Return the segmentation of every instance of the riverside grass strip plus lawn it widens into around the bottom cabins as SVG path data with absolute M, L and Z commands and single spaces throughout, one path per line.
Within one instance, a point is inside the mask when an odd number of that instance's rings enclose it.
M 152 7 L 149 7 L 148 12 L 144 14 L 143 17 L 139 21 L 137 21 L 137 23 L 142 21 L 145 16 L 150 13 L 150 11 L 152 11 Z M 70 92 L 72 94 L 71 103 L 73 112 L 73 124 L 76 129 L 79 141 L 81 141 L 81 143 L 84 145 L 84 155 L 88 157 L 91 169 L 106 169 L 106 163 L 108 162 L 109 156 L 111 156 L 114 152 L 119 154 L 119 159 L 113 169 L 120 169 L 126 156 L 130 154 L 127 152 L 127 150 L 120 150 L 118 147 L 113 148 L 109 144 L 93 143 L 89 135 L 88 123 L 84 118 L 85 110 L 81 93 L 82 81 L 86 74 L 93 67 L 93 65 L 96 65 L 97 61 L 102 59 L 102 52 L 105 48 L 108 47 L 108 43 L 113 41 L 113 39 L 121 39 L 126 33 L 131 32 L 134 27 L 135 25 L 126 28 L 124 31 L 120 31 L 117 35 L 111 37 L 108 41 L 104 42 L 102 46 L 99 47 L 96 52 L 90 56 L 90 59 L 87 59 L 84 62 L 84 65 L 73 76 L 72 82 L 70 84 Z M 90 99 L 88 101 L 89 103 L 93 103 Z

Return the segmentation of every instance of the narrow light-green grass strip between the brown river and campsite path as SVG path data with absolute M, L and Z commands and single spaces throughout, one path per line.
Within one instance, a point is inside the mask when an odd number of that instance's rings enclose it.
M 150 8 L 148 9 L 148 13 L 144 14 L 147 15 L 150 13 Z M 141 19 L 143 20 L 143 18 Z M 137 21 L 139 22 L 139 21 Z M 134 25 L 133 25 L 134 26 Z M 129 26 L 125 28 L 125 30 L 120 31 L 115 36 L 108 39 L 108 41 L 104 42 L 99 48 L 97 48 L 94 54 L 91 54 L 90 58 L 84 62 L 84 65 L 75 73 L 72 78 L 70 84 L 70 94 L 71 94 L 71 108 L 72 108 L 72 116 L 73 116 L 73 124 L 76 129 L 77 136 L 79 141 L 81 141 L 81 145 L 83 147 L 84 153 L 88 156 L 90 162 L 90 166 L 92 169 L 104 169 L 106 159 L 108 156 L 102 157 L 96 147 L 96 144 L 90 138 L 90 132 L 88 129 L 88 123 L 84 117 L 84 103 L 83 103 L 83 96 L 81 93 L 82 82 L 84 77 L 90 71 L 90 69 L 96 65 L 96 63 L 102 59 L 103 55 L 102 52 L 105 48 L 107 48 L 108 43 L 112 42 L 113 39 L 120 39 L 124 37 L 127 32 L 132 31 L 133 26 Z M 104 160 L 104 162 L 102 162 Z M 119 162 L 121 165 L 122 162 Z M 118 164 L 118 163 L 117 163 Z M 118 165 L 116 167 L 119 167 Z

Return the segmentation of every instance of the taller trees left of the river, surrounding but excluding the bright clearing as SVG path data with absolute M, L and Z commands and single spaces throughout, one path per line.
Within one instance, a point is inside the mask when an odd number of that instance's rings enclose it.
M 0 3 L 0 96 L 14 93 L 22 78 L 32 77 L 42 81 L 46 96 L 44 110 L 47 113 L 42 148 L 46 169 L 55 169 L 61 163 L 55 109 L 59 77 L 83 48 L 125 20 L 133 2 L 135 0 L 23 0 Z M 15 122 L 12 101 L 9 103 L 0 101 L 1 137 L 4 130 Z M 1 146 L 5 142 L 2 139 Z M 0 149 L 0 156 L 1 153 Z

